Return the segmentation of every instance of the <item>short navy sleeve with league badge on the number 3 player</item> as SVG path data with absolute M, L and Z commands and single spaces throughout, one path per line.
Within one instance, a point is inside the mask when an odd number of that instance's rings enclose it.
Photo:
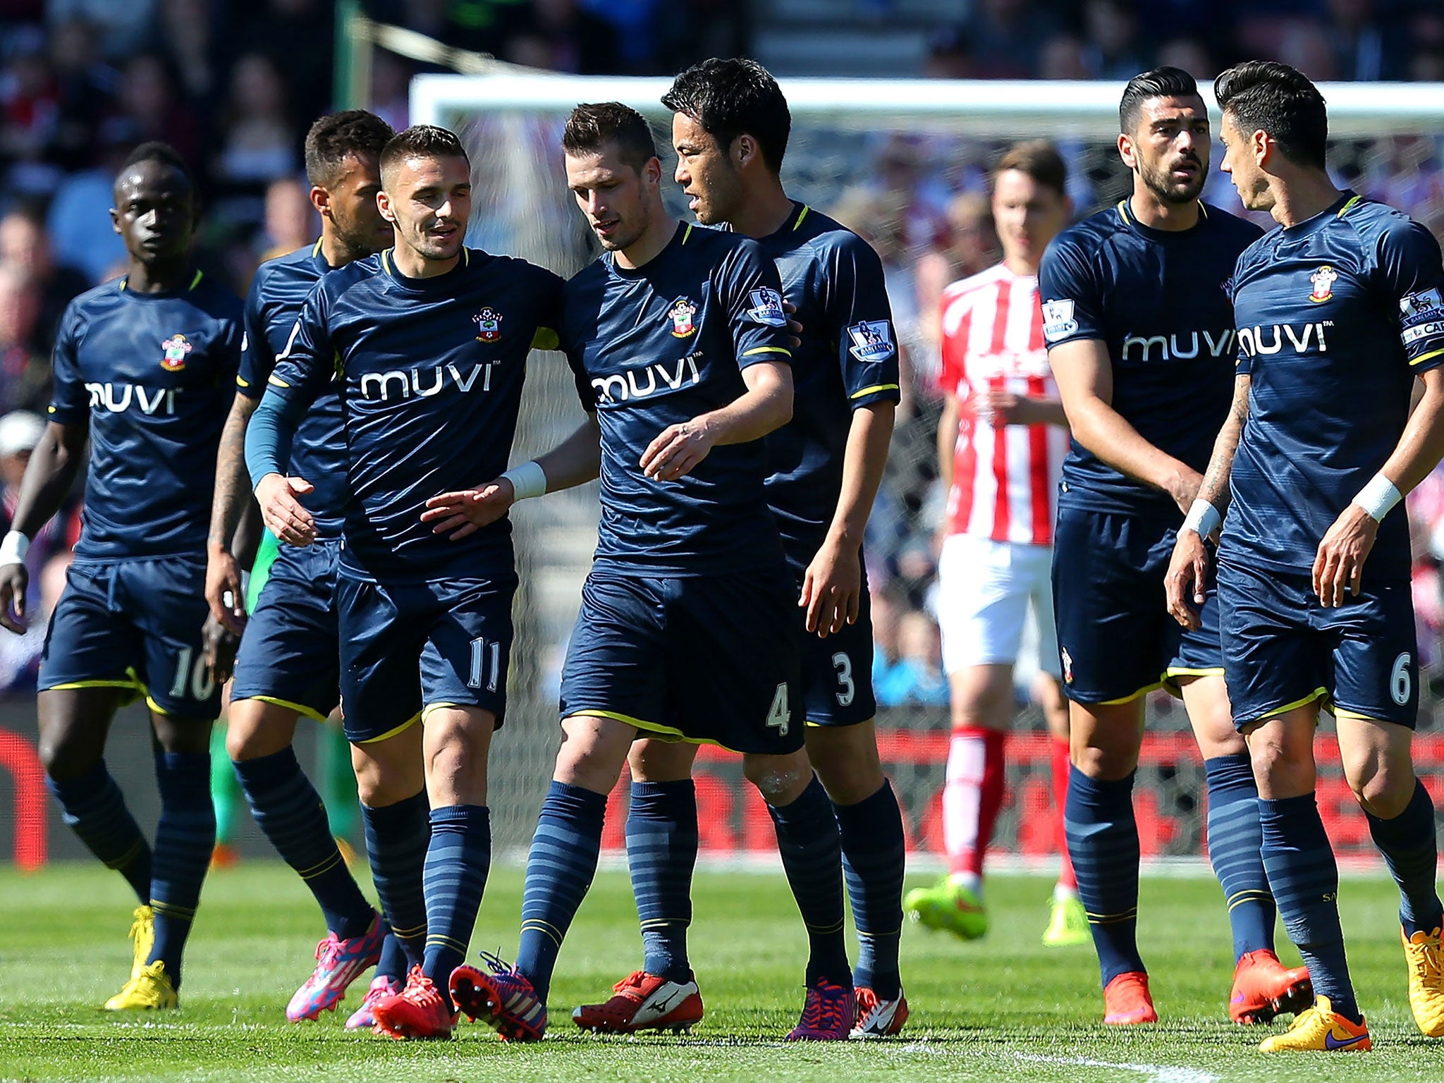
M 882 260 L 861 237 L 846 234 L 833 248 L 830 264 L 825 331 L 838 342 L 848 403 L 853 410 L 868 403 L 895 403 L 901 399 L 898 347 Z

